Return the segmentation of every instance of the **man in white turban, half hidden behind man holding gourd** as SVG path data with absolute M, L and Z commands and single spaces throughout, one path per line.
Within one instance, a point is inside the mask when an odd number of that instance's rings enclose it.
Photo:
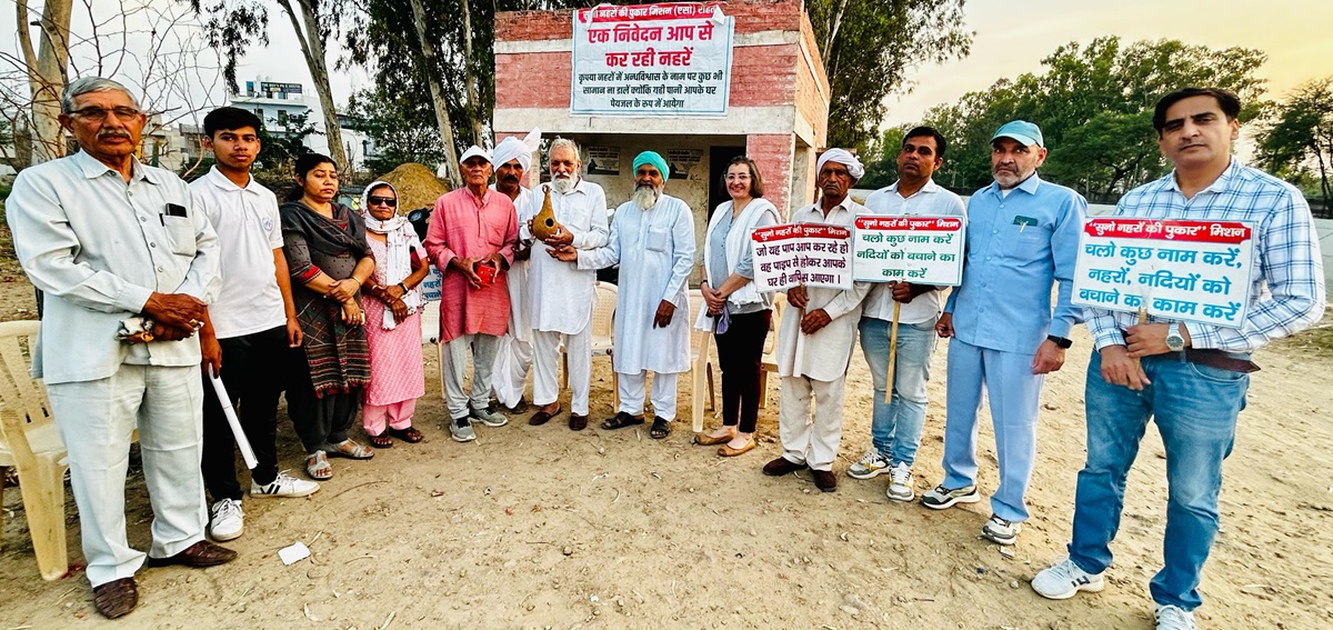
M 528 368 L 532 367 L 532 327 L 528 324 L 528 258 L 532 254 L 532 234 L 524 231 L 524 224 L 541 208 L 541 199 L 532 206 L 536 195 L 523 187 L 523 179 L 532 167 L 532 153 L 541 143 L 541 131 L 532 129 L 521 140 L 509 136 L 496 144 L 492 159 L 496 164 L 496 183 L 491 190 L 503 192 L 513 202 L 519 222 L 519 244 L 513 248 L 513 266 L 509 267 L 509 331 L 500 338 L 496 348 L 496 363 L 492 370 L 491 388 L 496 399 L 511 414 L 527 410 L 523 402 Z

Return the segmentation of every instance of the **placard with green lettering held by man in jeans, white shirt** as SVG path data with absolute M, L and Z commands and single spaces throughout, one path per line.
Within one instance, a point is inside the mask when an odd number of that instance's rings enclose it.
M 966 228 L 961 216 L 858 215 L 852 279 L 957 287 Z

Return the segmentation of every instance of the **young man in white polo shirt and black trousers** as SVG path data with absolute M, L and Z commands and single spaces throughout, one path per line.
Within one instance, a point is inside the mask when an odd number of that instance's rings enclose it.
M 307 497 L 319 483 L 277 470 L 277 399 L 284 388 L 281 366 L 291 347 L 301 344 L 292 304 L 291 276 L 283 256 L 277 198 L 251 178 L 259 156 L 260 119 L 235 107 L 204 116 L 204 147 L 216 164 L 189 184 L 196 207 L 217 231 L 223 288 L 208 307 L 200 343 L 204 352 L 204 486 L 213 503 L 208 531 L 231 541 L 245 529 L 235 439 L 213 392 L 209 370 L 221 374 L 227 394 L 239 406 L 241 428 L 259 464 L 251 471 L 251 497 Z

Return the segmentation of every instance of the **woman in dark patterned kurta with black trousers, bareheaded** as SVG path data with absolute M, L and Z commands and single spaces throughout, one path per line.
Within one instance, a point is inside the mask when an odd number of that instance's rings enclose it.
M 375 271 L 375 259 L 361 218 L 333 202 L 333 160 L 303 155 L 296 160 L 296 182 L 293 199 L 279 208 L 283 252 L 295 280 L 292 302 L 305 335 L 292 352 L 287 411 L 309 454 L 305 471 L 323 481 L 333 477 L 328 455 L 375 455 L 347 436 L 361 404 L 361 388 L 371 380 L 365 314 L 357 295 Z

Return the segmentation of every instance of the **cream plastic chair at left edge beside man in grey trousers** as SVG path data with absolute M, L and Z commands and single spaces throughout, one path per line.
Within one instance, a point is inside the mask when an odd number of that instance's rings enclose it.
M 35 320 L 0 323 L 0 466 L 19 470 L 37 569 L 43 579 L 59 579 L 69 571 L 64 482 L 69 463 L 47 387 L 29 376 L 40 327 Z

